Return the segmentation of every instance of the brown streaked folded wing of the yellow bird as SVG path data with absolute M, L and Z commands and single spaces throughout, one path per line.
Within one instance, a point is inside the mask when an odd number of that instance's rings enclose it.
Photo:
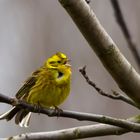
M 40 70 L 35 71 L 35 72 L 32 74 L 32 76 L 29 77 L 29 78 L 25 81 L 24 85 L 19 89 L 19 91 L 18 91 L 17 94 L 16 94 L 16 98 L 17 98 L 17 99 L 21 99 L 21 98 L 25 97 L 25 96 L 29 93 L 30 89 L 31 89 L 31 88 L 35 85 L 35 83 L 36 83 L 36 80 L 37 80 L 37 79 L 36 79 L 36 76 L 38 75 L 39 71 L 40 71 Z

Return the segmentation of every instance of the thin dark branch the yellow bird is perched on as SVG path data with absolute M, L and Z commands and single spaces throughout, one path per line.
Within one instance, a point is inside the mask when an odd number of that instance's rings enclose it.
M 34 113 L 42 113 L 45 115 L 48 115 L 49 117 L 66 117 L 66 118 L 72 118 L 72 119 L 77 119 L 79 121 L 93 121 L 93 122 L 100 122 L 104 124 L 110 124 L 110 125 L 115 125 L 118 127 L 125 128 L 129 131 L 133 132 L 140 132 L 140 124 L 130 122 L 128 120 L 124 119 L 117 119 L 105 115 L 97 115 L 97 114 L 90 114 L 90 113 L 82 113 L 82 112 L 74 112 L 74 111 L 67 111 L 63 110 L 62 112 L 58 112 L 55 109 L 46 109 L 42 107 L 35 107 L 34 105 L 25 103 L 23 101 L 9 98 L 7 96 L 3 96 L 0 94 L 0 100 L 9 103 L 14 106 L 18 106 L 24 109 L 28 109 L 31 112 Z

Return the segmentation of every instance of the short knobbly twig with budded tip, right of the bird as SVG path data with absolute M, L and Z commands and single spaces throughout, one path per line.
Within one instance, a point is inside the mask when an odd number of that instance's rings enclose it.
M 137 107 L 138 109 L 139 106 L 137 106 L 137 104 L 131 100 L 130 98 L 116 92 L 116 91 L 113 91 L 113 94 L 108 94 L 108 93 L 105 93 L 101 88 L 99 88 L 93 81 L 91 81 L 86 73 L 86 66 L 84 66 L 83 68 L 80 68 L 79 71 L 81 72 L 81 74 L 83 75 L 83 77 L 86 79 L 87 83 L 89 85 L 91 85 L 92 87 L 95 88 L 95 90 L 102 96 L 105 96 L 105 97 L 108 97 L 108 98 L 111 98 L 111 99 L 114 99 L 114 100 L 122 100 L 134 107 Z

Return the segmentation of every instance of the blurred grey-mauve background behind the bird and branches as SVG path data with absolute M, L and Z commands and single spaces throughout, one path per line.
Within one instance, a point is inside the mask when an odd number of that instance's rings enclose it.
M 120 5 L 134 42 L 140 44 L 140 1 L 121 0 Z M 116 42 L 121 52 L 137 69 L 127 43 L 115 21 L 109 0 L 92 0 L 90 6 L 101 24 Z M 97 94 L 81 76 L 78 69 L 87 66 L 87 73 L 104 91 L 120 91 L 91 50 L 69 15 L 54 0 L 0 0 L 0 93 L 14 96 L 26 78 L 44 60 L 61 51 L 72 60 L 72 86 L 62 109 L 128 118 L 139 113 L 137 109 Z M 137 69 L 138 71 L 138 69 Z M 121 91 L 120 91 L 121 92 Z M 0 104 L 0 113 L 11 106 Z M 93 124 L 68 118 L 49 118 L 33 114 L 29 128 L 20 128 L 14 120 L 0 121 L 0 137 L 26 132 L 41 132 Z M 132 140 L 139 134 L 91 138 L 96 140 Z

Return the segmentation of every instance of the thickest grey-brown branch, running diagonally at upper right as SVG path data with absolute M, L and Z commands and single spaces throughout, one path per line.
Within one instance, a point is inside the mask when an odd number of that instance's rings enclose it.
M 120 52 L 85 0 L 59 0 L 118 86 L 140 106 L 140 75 Z

